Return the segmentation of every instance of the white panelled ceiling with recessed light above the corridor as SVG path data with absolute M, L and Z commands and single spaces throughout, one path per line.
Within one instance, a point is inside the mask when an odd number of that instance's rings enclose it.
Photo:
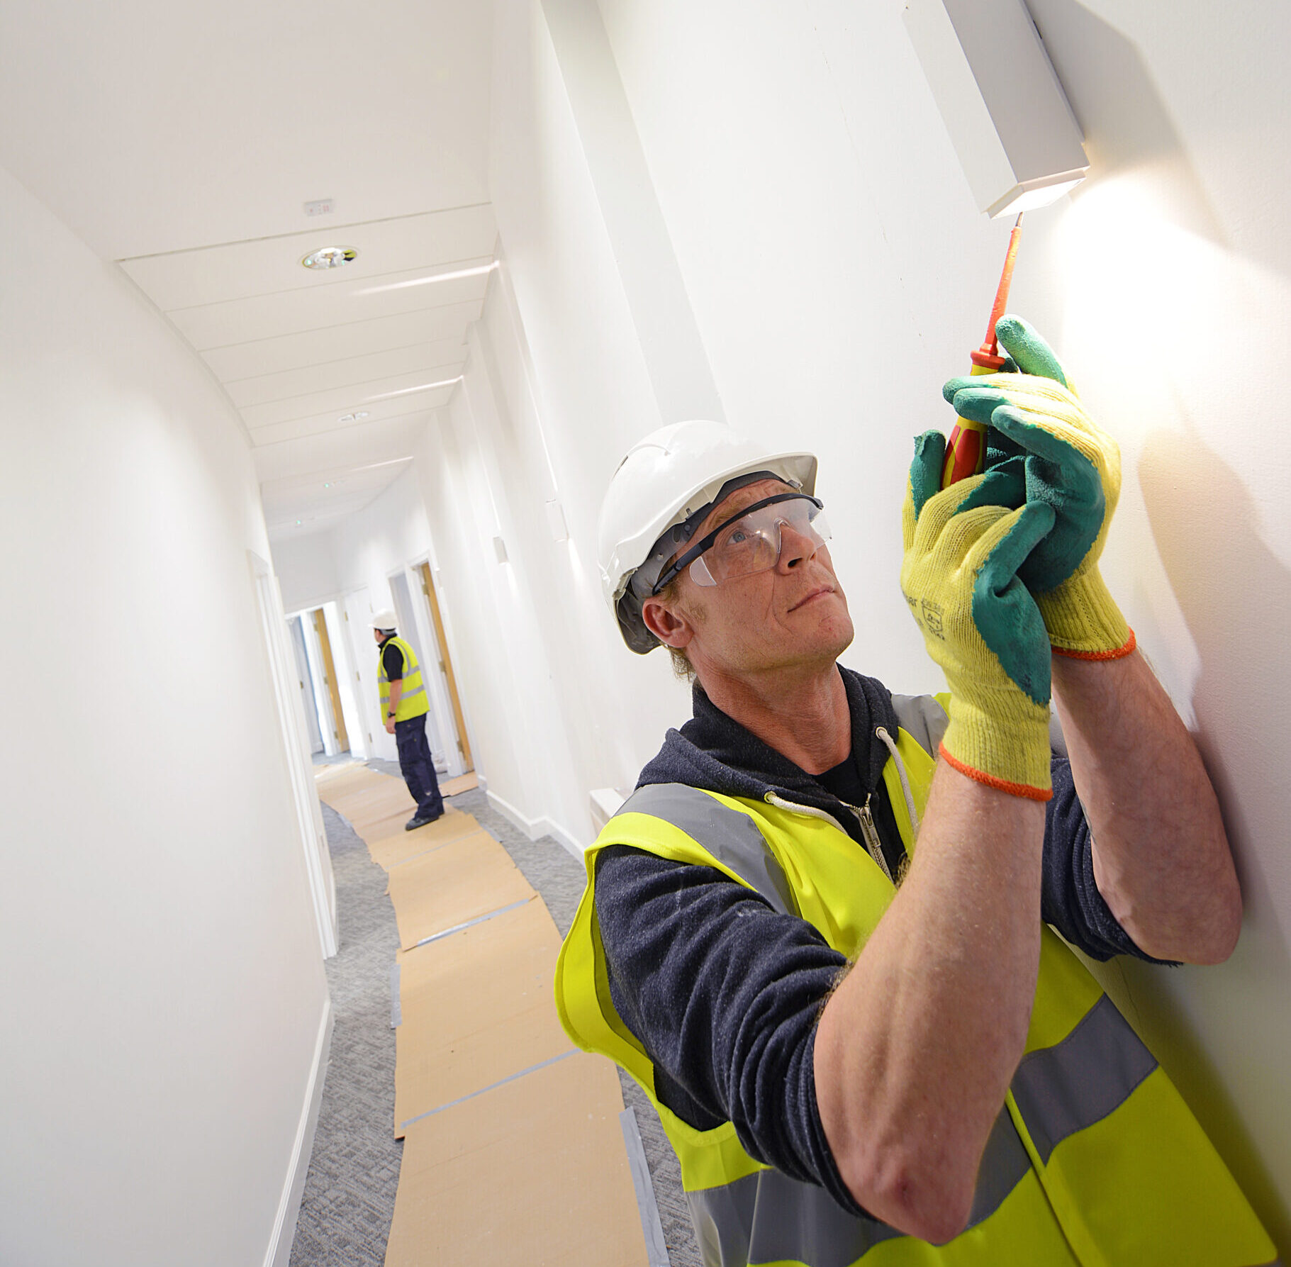
M 223 384 L 272 537 L 367 505 L 461 373 L 497 236 L 491 10 L 0 5 L 0 164 Z M 358 257 L 303 269 L 324 245 Z

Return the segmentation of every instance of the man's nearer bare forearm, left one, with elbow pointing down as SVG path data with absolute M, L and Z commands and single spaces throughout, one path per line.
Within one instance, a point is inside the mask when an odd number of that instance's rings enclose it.
M 939 765 L 905 883 L 826 1005 L 816 1099 L 871 1214 L 945 1241 L 1021 1058 L 1035 994 L 1044 807 Z

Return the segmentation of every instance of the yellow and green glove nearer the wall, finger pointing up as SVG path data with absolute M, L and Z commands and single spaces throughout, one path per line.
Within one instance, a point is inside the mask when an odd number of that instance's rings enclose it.
M 1108 593 L 1099 557 L 1121 496 L 1121 451 L 1084 412 L 1048 344 L 1017 316 L 995 324 L 1004 371 L 951 378 L 955 413 L 991 427 L 988 470 L 1025 473 L 1026 501 L 1053 508 L 1053 528 L 1019 568 L 1060 655 L 1113 660 L 1133 630 Z

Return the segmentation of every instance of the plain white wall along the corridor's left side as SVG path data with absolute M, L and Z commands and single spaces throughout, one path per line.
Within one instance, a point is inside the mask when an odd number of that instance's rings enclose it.
M 0 226 L 0 1259 L 258 1267 L 328 1000 L 250 456 L 4 172 Z

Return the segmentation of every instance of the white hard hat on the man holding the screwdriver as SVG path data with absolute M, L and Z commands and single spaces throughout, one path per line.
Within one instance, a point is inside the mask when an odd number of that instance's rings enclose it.
M 644 655 L 658 646 L 642 620 L 642 601 L 658 580 L 664 562 L 697 526 L 687 520 L 697 511 L 707 513 L 732 479 L 762 471 L 803 492 L 816 489 L 815 455 L 768 452 L 724 422 L 673 422 L 627 451 L 600 506 L 596 561 L 605 599 L 633 651 Z M 687 531 L 670 535 L 667 542 L 660 540 L 683 524 Z M 680 539 L 674 541 L 673 536 Z M 635 584 L 630 584 L 634 576 Z

